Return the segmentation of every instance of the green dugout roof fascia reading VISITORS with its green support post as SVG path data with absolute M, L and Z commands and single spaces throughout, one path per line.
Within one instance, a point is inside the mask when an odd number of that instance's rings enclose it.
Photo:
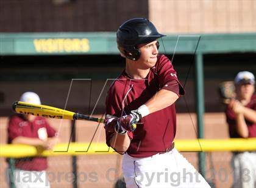
M 169 54 L 170 59 L 175 55 L 190 55 L 194 60 L 197 136 L 204 138 L 204 57 L 212 54 L 250 53 L 253 54 L 252 58 L 255 58 L 256 33 L 171 35 L 161 39 L 160 42 L 162 42 L 160 53 Z M 119 55 L 119 53 L 116 48 L 115 33 L 0 33 L 0 55 L 2 57 L 94 55 L 96 58 L 96 55 Z M 255 59 L 251 61 L 255 62 Z M 243 63 L 241 62 L 241 69 Z M 232 64 L 229 66 L 232 69 Z M 252 70 L 255 70 L 255 64 Z M 204 153 L 200 152 L 199 158 L 201 173 L 204 174 Z

